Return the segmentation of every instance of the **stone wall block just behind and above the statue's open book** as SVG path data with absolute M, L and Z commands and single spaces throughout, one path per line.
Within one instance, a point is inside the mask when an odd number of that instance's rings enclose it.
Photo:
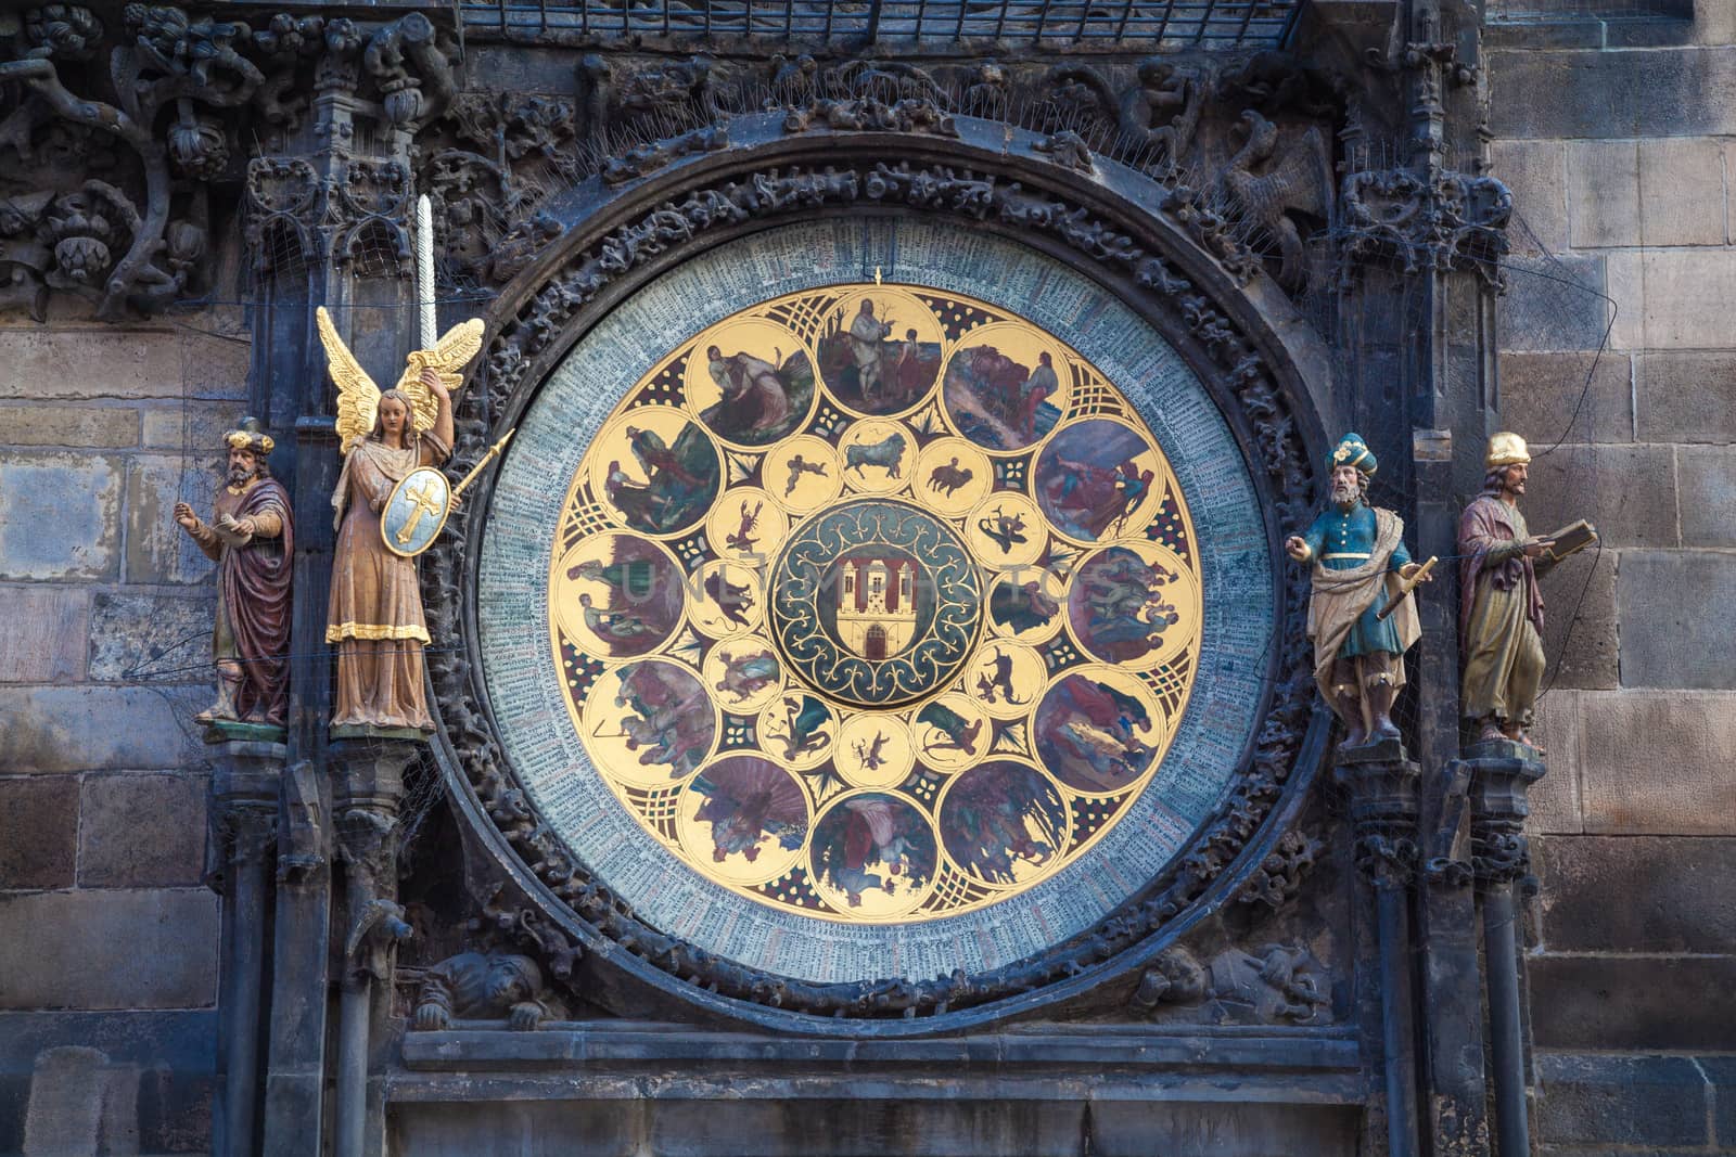
M 1536 534 L 1588 519 L 1606 553 L 1618 546 L 1679 543 L 1675 463 L 1668 446 L 1535 446 L 1531 480 L 1521 503 Z M 1559 588 L 1552 585 L 1552 590 Z

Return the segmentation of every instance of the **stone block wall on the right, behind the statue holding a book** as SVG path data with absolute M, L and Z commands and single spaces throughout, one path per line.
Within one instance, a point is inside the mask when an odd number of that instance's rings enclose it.
M 1521 274 L 1503 305 L 1503 423 L 1562 439 L 1528 519 L 1606 543 L 1545 590 L 1529 984 L 1557 1154 L 1736 1147 L 1736 1065 L 1700 1056 L 1736 1041 L 1736 5 L 1696 7 L 1488 38 L 1496 175 L 1618 307 L 1575 416 L 1604 302 Z

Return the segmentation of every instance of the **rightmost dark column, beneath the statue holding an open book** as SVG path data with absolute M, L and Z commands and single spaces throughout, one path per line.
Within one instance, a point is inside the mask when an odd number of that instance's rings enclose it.
M 1489 1062 L 1500 1157 L 1528 1157 L 1531 1124 L 1524 1069 L 1524 985 L 1514 888 L 1531 871 L 1524 834 L 1531 784 L 1547 770 L 1536 749 L 1516 742 L 1465 748 L 1470 772 L 1470 862 L 1483 890 L 1483 956 L 1489 989 Z

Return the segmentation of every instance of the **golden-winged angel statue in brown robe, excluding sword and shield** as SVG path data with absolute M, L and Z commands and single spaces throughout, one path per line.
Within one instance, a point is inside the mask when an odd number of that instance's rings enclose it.
M 408 474 L 437 467 L 451 454 L 451 394 L 462 383 L 464 366 L 483 349 L 483 323 L 464 321 L 434 349 L 411 352 L 398 385 L 382 392 L 344 345 L 325 307 L 316 316 L 337 385 L 344 453 L 344 474 L 332 493 L 337 529 L 326 616 L 326 642 L 337 644 L 332 729 L 434 730 L 422 690 L 429 628 L 417 564 L 387 548 L 380 515 Z

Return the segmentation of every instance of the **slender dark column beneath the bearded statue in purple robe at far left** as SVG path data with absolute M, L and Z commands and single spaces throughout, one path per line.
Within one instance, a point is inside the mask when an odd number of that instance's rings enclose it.
M 222 895 L 219 1051 L 222 1107 L 217 1148 L 250 1157 L 259 1115 L 260 992 L 266 963 L 266 864 L 276 857 L 278 796 L 290 749 L 224 741 L 208 749 L 212 826 L 208 881 Z

